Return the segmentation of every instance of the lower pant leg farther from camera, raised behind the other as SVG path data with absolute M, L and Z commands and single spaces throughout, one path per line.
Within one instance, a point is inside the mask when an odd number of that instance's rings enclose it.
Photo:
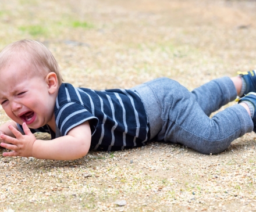
M 229 77 L 212 80 L 191 92 L 207 116 L 236 99 L 237 92 Z

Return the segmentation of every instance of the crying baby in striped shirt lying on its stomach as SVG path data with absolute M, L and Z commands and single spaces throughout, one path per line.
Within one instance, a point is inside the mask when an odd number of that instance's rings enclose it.
M 12 119 L 0 127 L 1 146 L 12 150 L 3 156 L 73 160 L 89 149 L 122 150 L 151 140 L 216 154 L 256 130 L 255 71 L 192 92 L 168 78 L 94 91 L 63 83 L 51 52 L 22 40 L 0 53 L 0 74 L 0 103 Z M 239 104 L 209 118 L 237 95 Z M 34 132 L 48 132 L 51 140 L 38 140 Z

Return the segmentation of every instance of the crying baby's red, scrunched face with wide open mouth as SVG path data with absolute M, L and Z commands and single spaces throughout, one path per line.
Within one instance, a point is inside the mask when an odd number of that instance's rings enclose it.
M 54 121 L 55 96 L 31 64 L 12 62 L 0 70 L 0 103 L 16 123 L 39 128 Z M 40 68 L 38 68 L 40 69 Z

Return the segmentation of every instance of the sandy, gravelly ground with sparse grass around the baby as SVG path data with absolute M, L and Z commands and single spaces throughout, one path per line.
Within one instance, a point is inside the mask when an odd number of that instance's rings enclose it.
M 1 0 L 0 49 L 37 39 L 77 87 L 165 76 L 191 91 L 256 69 L 255 9 L 238 0 Z M 151 142 L 74 161 L 0 156 L 0 211 L 256 211 L 255 139 L 216 155 Z

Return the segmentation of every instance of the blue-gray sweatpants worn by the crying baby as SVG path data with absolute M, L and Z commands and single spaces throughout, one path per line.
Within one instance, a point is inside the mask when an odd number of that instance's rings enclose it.
M 209 118 L 237 96 L 229 77 L 212 80 L 192 92 L 169 78 L 158 78 L 131 90 L 143 100 L 154 141 L 182 143 L 200 153 L 216 154 L 253 131 L 253 121 L 240 105 Z

